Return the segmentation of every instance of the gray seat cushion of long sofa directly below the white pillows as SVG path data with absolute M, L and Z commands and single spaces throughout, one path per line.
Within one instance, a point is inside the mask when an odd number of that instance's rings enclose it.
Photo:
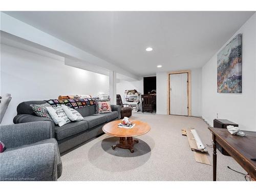
M 87 121 L 72 121 L 63 126 L 55 126 L 55 138 L 61 140 L 82 131 L 86 131 L 87 129 Z

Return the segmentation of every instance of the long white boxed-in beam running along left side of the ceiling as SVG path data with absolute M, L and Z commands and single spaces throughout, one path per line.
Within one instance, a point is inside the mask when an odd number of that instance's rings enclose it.
M 108 69 L 115 71 L 130 78 L 139 79 L 139 77 L 130 71 L 122 69 L 117 65 L 113 65 L 104 59 L 96 57 L 95 55 L 83 51 L 66 41 L 60 40 L 44 31 L 41 31 L 35 27 L 32 27 L 6 13 L 0 11 L 1 15 L 1 31 L 9 33 L 11 38 L 21 40 L 28 45 L 33 45 L 41 50 L 45 50 L 51 53 L 58 53 L 66 58 L 79 60 L 81 62 L 88 63 L 90 66 L 87 69 L 91 69 L 92 66 L 100 67 L 101 69 Z M 100 70 L 101 71 L 101 70 Z

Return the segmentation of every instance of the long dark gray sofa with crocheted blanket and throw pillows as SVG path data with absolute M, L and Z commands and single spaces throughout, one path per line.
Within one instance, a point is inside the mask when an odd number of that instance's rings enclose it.
M 34 121 L 50 121 L 52 125 L 52 135 L 58 142 L 59 152 L 63 153 L 71 148 L 102 134 L 102 126 L 113 120 L 120 119 L 121 106 L 111 105 L 112 112 L 104 114 L 95 114 L 96 106 L 91 105 L 84 108 L 78 108 L 82 116 L 82 121 L 72 121 L 63 126 L 55 125 L 53 121 L 38 117 L 34 114 L 30 104 L 43 104 L 46 101 L 25 101 L 17 106 L 17 115 L 13 122 L 26 123 Z

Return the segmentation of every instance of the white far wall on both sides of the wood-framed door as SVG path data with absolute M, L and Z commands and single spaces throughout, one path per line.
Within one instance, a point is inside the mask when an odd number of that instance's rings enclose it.
M 191 69 L 191 115 L 201 117 L 202 69 Z M 166 72 L 157 73 L 157 114 L 167 114 Z

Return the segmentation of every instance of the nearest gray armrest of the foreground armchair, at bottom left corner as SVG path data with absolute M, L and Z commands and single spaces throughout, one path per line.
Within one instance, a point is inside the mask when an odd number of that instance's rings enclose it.
M 57 180 L 57 147 L 44 143 L 1 153 L 0 180 Z

